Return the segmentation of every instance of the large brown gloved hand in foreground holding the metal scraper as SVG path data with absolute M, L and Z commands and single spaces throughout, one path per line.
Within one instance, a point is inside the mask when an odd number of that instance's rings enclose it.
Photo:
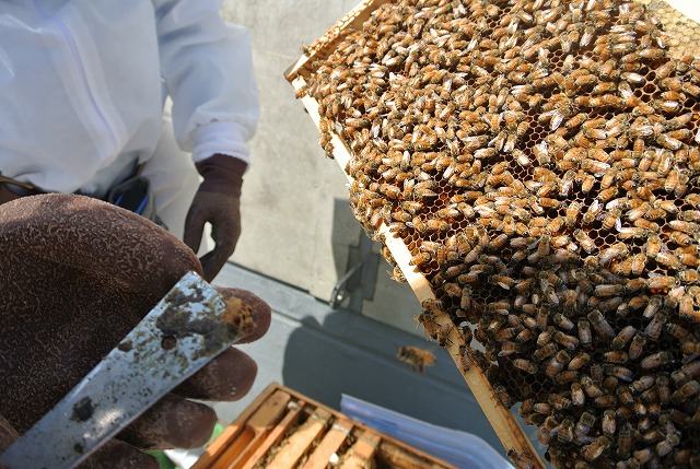
M 194 253 L 139 215 L 82 196 L 44 195 L 0 206 L 0 450 L 54 407 L 187 271 Z M 219 289 L 269 327 L 253 293 Z M 237 349 L 212 360 L 110 441 L 83 468 L 158 468 L 137 448 L 198 447 L 211 408 L 186 398 L 236 400 L 257 366 Z

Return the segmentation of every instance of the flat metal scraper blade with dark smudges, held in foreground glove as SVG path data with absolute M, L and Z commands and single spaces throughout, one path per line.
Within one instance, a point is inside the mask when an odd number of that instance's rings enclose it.
M 82 382 L 0 455 L 7 469 L 72 468 L 243 337 L 226 306 L 186 273 Z

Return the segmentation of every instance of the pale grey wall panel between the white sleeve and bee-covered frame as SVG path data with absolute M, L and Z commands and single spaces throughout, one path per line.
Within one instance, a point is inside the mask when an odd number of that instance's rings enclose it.
M 329 301 L 364 233 L 348 202 L 347 179 L 318 145 L 318 130 L 284 70 L 357 1 L 226 0 L 223 16 L 250 31 L 261 99 L 253 164 L 243 189 L 243 235 L 232 260 Z M 378 262 L 372 301 L 363 314 L 413 333 L 418 302 L 410 288 L 389 280 Z M 358 304 L 358 302 L 354 302 Z

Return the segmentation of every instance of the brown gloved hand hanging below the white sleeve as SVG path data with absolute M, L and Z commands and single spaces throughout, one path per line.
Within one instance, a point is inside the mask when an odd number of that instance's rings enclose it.
M 247 165 L 236 157 L 215 154 L 196 166 L 205 180 L 187 212 L 183 239 L 197 253 L 205 224 L 211 224 L 215 246 L 200 258 L 203 278 L 211 282 L 233 254 L 241 236 L 241 186 Z

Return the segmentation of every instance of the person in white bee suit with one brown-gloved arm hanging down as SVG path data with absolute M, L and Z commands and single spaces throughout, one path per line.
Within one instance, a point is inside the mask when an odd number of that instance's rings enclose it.
M 162 223 L 194 250 L 209 222 L 211 280 L 241 233 L 259 114 L 248 34 L 219 9 L 1 1 L 0 203 L 89 195 Z

